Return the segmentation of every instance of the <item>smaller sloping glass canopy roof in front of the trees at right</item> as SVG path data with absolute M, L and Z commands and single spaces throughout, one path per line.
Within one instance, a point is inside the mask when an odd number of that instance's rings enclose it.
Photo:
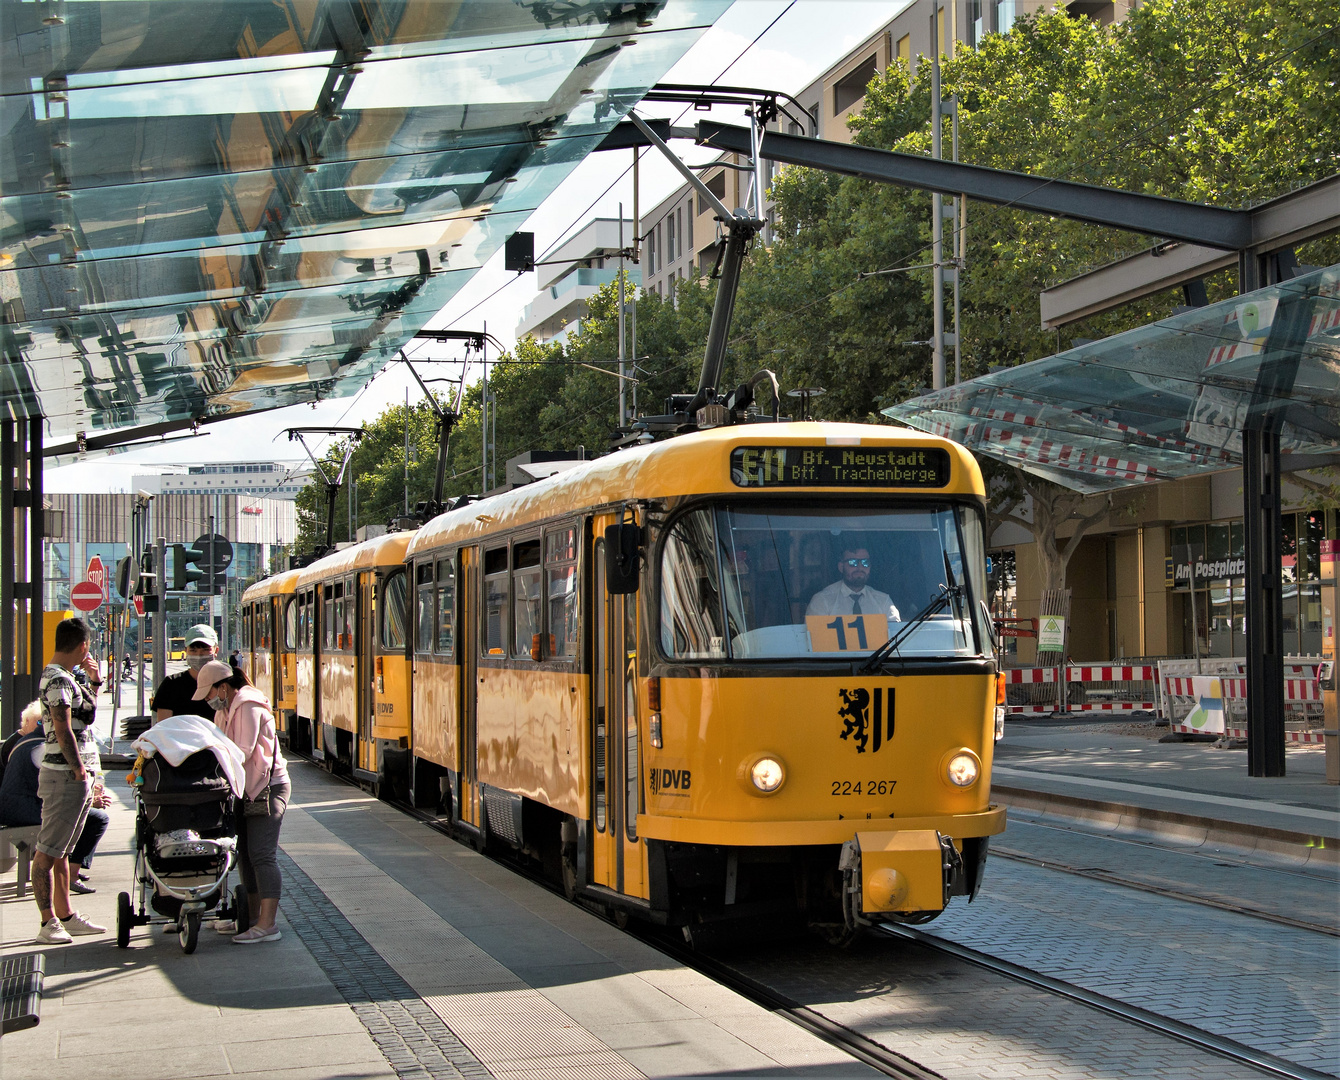
M 1278 427 L 1284 469 L 1336 464 L 1340 265 L 884 415 L 1080 492 L 1238 466 L 1249 421 Z

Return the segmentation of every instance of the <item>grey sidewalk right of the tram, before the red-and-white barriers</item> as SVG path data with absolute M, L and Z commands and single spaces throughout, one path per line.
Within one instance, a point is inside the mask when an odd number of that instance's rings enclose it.
M 1340 788 L 1321 746 L 1289 746 L 1282 777 L 1248 776 L 1246 750 L 1159 742 L 1152 724 L 1012 721 L 996 745 L 993 796 L 1190 843 L 1340 863 Z

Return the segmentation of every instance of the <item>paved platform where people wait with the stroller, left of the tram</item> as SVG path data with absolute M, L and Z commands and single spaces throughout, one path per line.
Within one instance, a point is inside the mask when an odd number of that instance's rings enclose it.
M 206 926 L 185 957 L 145 927 L 129 950 L 110 930 L 48 946 L 42 1024 L 0 1042 L 0 1077 L 875 1075 L 395 809 L 306 765 L 293 779 L 283 941 Z M 113 813 L 78 902 L 109 927 L 131 824 Z M 31 898 L 0 895 L 5 953 L 35 949 Z

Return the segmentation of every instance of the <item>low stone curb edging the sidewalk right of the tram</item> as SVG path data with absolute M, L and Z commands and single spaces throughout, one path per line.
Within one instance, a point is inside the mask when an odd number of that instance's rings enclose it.
M 1122 832 L 1151 832 L 1197 846 L 1233 847 L 1288 856 L 1319 866 L 1340 866 L 1340 837 L 1293 832 L 1269 825 L 1245 825 L 1194 813 L 1080 799 L 1073 795 L 992 784 L 992 797 L 1006 807 L 1080 819 Z

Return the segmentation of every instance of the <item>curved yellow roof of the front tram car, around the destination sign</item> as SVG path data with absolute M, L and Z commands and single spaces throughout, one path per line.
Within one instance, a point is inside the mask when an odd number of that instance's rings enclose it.
M 639 498 L 691 494 L 745 493 L 730 480 L 730 452 L 737 446 L 829 446 L 859 453 L 863 448 L 938 448 L 949 453 L 950 481 L 923 494 L 982 496 L 981 472 L 962 446 L 937 435 L 874 423 L 750 423 L 714 427 L 653 442 L 576 465 L 545 480 L 492 494 L 458 511 L 449 511 L 423 525 L 410 541 L 406 557 L 441 544 L 489 531 L 520 528 L 595 507 L 618 505 Z M 757 490 L 757 489 L 754 489 Z M 883 493 L 868 488 L 772 489 L 791 497 L 842 492 Z

